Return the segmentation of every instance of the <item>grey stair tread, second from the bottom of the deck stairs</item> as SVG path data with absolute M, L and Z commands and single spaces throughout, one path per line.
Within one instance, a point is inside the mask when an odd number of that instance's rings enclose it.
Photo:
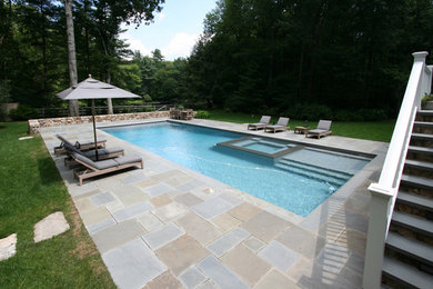
M 404 238 L 396 232 L 387 232 L 385 246 L 417 261 L 433 266 L 433 248 L 425 242 Z

